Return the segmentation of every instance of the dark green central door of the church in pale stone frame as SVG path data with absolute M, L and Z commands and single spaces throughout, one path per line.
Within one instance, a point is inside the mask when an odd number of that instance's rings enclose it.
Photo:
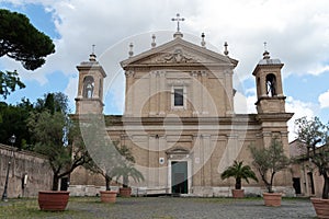
M 171 162 L 171 193 L 188 194 L 188 161 Z

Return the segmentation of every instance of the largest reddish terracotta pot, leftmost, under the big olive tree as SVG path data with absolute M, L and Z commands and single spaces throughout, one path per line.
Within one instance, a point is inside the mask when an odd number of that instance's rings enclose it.
M 70 192 L 68 191 L 41 191 L 38 192 L 38 206 L 41 210 L 65 210 Z

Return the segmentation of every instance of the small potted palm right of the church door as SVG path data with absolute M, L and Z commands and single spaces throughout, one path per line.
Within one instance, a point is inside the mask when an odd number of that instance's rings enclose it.
M 222 174 L 222 180 L 229 177 L 236 178 L 235 189 L 231 189 L 234 198 L 245 197 L 245 191 L 241 189 L 241 181 L 245 180 L 249 183 L 248 178 L 258 182 L 254 172 L 251 170 L 250 165 L 243 165 L 243 161 L 234 161 L 234 164 L 228 166 Z

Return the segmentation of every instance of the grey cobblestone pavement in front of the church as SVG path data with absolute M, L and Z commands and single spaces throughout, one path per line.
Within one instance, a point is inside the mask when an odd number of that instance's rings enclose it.
M 281 207 L 265 207 L 261 198 L 117 198 L 116 204 L 89 205 L 70 201 L 69 209 L 93 218 L 212 219 L 212 218 L 316 218 L 308 199 L 283 199 Z

